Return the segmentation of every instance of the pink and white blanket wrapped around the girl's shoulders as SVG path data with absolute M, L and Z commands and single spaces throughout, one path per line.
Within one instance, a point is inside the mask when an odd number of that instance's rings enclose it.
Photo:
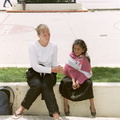
M 85 55 L 77 57 L 72 52 L 69 55 L 68 62 L 65 64 L 63 74 L 82 84 L 92 76 L 91 65 Z

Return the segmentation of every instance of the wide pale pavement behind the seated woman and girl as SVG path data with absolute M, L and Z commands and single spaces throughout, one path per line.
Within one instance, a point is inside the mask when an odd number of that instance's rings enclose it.
M 34 28 L 45 23 L 64 64 L 76 38 L 86 41 L 92 66 L 120 67 L 120 11 L 79 13 L 0 13 L 0 66 L 29 66 Z

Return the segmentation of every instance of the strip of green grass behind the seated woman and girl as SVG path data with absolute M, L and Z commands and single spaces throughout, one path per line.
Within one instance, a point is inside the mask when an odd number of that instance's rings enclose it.
M 26 82 L 25 71 L 27 68 L 8 67 L 0 68 L 0 82 Z M 120 68 L 93 67 L 93 82 L 120 82 Z M 63 74 L 57 75 L 60 82 Z

